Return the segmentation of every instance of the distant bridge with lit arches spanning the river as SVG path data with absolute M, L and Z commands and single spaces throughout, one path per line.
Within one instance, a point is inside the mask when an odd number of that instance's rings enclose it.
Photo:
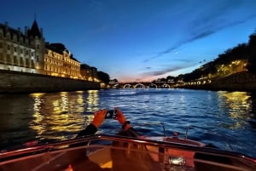
M 108 83 L 108 88 L 174 88 L 174 82 Z

